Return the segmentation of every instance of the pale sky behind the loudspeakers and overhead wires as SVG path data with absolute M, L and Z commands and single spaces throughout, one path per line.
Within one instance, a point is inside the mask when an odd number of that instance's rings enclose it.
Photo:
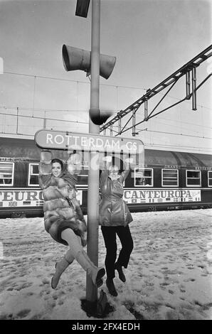
M 44 114 L 59 119 L 48 120 L 48 129 L 88 133 L 90 80 L 83 71 L 66 72 L 61 55 L 63 44 L 91 48 L 92 1 L 88 18 L 75 16 L 76 2 L 0 1 L 1 136 L 18 133 L 33 138 L 43 127 L 43 119 L 35 117 Z M 110 78 L 100 77 L 100 109 L 115 115 L 209 45 L 209 0 L 101 0 L 100 53 L 117 60 Z M 197 85 L 210 66 L 205 61 L 197 68 Z M 178 104 L 137 126 L 136 138 L 147 147 L 211 151 L 210 80 L 197 92 L 197 111 L 191 110 L 191 100 Z M 157 110 L 184 98 L 185 91 L 183 77 Z M 149 100 L 149 112 L 165 92 Z M 17 110 L 28 117 L 19 116 L 17 122 L 9 115 Z M 143 117 L 144 106 L 137 112 L 137 122 Z M 132 131 L 122 136 L 130 137 Z

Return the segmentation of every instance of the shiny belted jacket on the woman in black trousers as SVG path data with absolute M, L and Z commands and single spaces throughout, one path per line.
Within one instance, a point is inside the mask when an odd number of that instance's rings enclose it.
M 127 226 L 132 222 L 127 203 L 122 199 L 123 183 L 129 171 L 124 171 L 115 181 L 109 177 L 107 170 L 102 171 L 100 176 L 100 192 L 102 201 L 100 203 L 100 225 L 102 226 Z

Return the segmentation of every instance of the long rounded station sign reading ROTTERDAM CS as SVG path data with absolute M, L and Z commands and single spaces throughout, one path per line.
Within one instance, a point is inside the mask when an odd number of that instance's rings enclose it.
M 35 134 L 36 144 L 42 149 L 98 151 L 108 153 L 140 154 L 144 144 L 139 139 L 81 134 L 69 131 L 42 129 Z

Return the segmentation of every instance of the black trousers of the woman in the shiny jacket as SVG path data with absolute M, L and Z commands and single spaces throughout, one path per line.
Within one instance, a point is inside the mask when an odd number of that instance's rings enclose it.
M 102 226 L 102 235 L 105 240 L 106 258 L 105 268 L 107 278 L 113 279 L 115 277 L 115 261 L 117 258 L 117 242 L 116 235 L 120 238 L 122 249 L 120 250 L 117 264 L 127 268 L 129 257 L 133 249 L 132 235 L 129 230 L 129 225 L 124 226 Z

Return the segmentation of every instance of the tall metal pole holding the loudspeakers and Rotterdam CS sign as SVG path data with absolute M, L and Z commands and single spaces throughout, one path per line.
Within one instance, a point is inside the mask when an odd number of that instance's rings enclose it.
M 90 109 L 99 109 L 100 90 L 100 0 L 92 0 L 91 31 L 91 81 Z M 89 133 L 100 134 L 100 126 L 89 119 Z M 97 161 L 97 152 L 90 152 L 88 172 L 88 247 L 87 253 L 92 262 L 98 264 L 98 225 L 99 225 L 99 166 L 93 168 L 92 161 Z M 97 161 L 98 163 L 98 161 Z M 95 165 L 97 165 L 95 163 Z M 97 286 L 87 274 L 86 300 L 97 301 Z

